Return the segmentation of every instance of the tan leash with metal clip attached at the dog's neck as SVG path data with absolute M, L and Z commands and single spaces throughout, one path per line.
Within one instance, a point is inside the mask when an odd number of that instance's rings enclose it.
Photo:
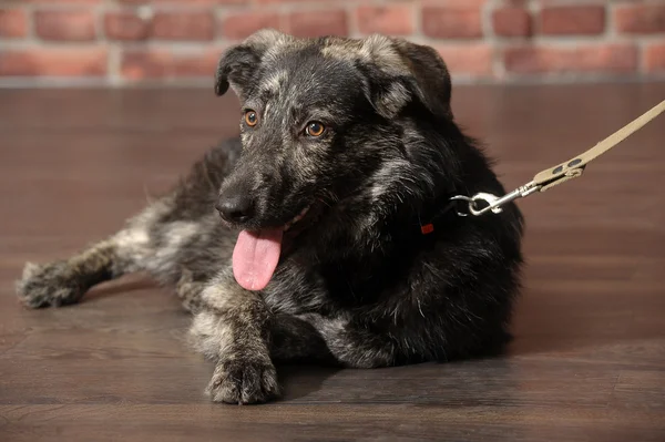
M 612 147 L 620 144 L 622 141 L 641 130 L 646 123 L 654 120 L 665 111 L 665 100 L 652 107 L 648 112 L 633 120 L 605 140 L 597 143 L 589 151 L 564 162 L 554 167 L 546 168 L 535 174 L 532 181 L 518 187 L 513 192 L 503 196 L 495 196 L 489 193 L 480 192 L 473 196 L 456 195 L 451 201 L 463 201 L 469 203 L 469 213 L 474 216 L 492 212 L 499 214 L 502 212 L 501 206 L 513 202 L 518 198 L 532 195 L 536 192 L 545 192 L 561 183 L 576 178 L 582 175 L 586 165 L 602 154 L 610 151 Z M 483 207 L 479 207 L 479 203 L 484 203 Z M 459 216 L 467 214 L 458 212 Z

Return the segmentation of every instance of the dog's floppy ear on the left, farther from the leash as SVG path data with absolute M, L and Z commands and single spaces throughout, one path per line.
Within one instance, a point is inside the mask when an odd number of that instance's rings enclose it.
M 241 44 L 224 52 L 215 73 L 215 94 L 224 95 L 231 86 L 243 99 L 263 56 L 272 48 L 287 43 L 293 38 L 273 29 L 264 29 L 249 35 Z

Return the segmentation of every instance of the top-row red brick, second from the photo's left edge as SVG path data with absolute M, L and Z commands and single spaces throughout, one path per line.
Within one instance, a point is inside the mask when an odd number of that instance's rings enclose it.
M 43 40 L 91 41 L 94 16 L 88 10 L 49 10 L 34 13 L 34 31 Z

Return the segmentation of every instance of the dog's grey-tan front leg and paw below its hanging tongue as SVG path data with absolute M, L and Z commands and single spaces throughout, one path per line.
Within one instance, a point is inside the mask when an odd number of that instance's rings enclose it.
M 265 402 L 279 395 L 267 345 L 270 315 L 259 294 L 231 278 L 224 273 L 206 286 L 190 336 L 196 349 L 215 361 L 206 389 L 213 401 Z

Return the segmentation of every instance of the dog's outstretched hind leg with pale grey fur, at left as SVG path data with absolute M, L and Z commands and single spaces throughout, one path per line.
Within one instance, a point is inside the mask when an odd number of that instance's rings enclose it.
M 33 308 L 73 304 L 96 284 L 146 270 L 163 284 L 180 279 L 177 294 L 185 308 L 194 310 L 201 285 L 181 273 L 178 254 L 206 228 L 202 227 L 204 218 L 214 215 L 219 184 L 241 150 L 239 140 L 209 150 L 171 194 L 149 205 L 110 238 L 69 259 L 28 264 L 17 282 L 21 300 Z

